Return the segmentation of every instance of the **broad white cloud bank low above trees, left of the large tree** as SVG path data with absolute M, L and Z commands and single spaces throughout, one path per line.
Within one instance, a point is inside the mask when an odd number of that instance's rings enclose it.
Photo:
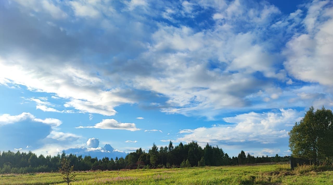
M 177 142 L 197 141 L 201 144 L 246 145 L 253 143 L 276 143 L 280 138 L 287 138 L 290 124 L 300 120 L 302 113 L 293 109 L 280 109 L 277 112 L 245 113 L 223 120 L 232 125 L 218 125 L 210 128 L 181 129 Z M 246 143 L 246 144 L 245 144 Z

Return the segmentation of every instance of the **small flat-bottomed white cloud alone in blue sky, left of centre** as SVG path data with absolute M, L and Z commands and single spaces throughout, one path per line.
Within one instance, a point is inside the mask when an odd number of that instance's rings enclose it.
M 141 130 L 137 128 L 134 123 L 120 123 L 115 119 L 103 119 L 100 123 L 97 123 L 95 126 L 78 126 L 75 128 L 100 128 L 100 129 L 118 129 L 118 130 L 130 130 L 130 131 Z

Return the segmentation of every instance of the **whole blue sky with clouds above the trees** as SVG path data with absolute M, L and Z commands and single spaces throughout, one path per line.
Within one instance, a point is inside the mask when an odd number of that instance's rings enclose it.
M 2 0 L 0 150 L 290 155 L 332 48 L 329 0 Z

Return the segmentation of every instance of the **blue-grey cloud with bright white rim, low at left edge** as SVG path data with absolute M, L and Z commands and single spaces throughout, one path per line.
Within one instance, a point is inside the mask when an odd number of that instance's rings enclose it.
M 42 150 L 45 145 L 67 146 L 68 143 L 76 142 L 81 138 L 73 133 L 60 132 L 61 124 L 59 119 L 40 119 L 26 112 L 13 116 L 2 114 L 0 115 L 0 134 L 11 142 L 2 142 L 0 147 L 9 150 L 12 146 L 25 146 L 32 150 Z

